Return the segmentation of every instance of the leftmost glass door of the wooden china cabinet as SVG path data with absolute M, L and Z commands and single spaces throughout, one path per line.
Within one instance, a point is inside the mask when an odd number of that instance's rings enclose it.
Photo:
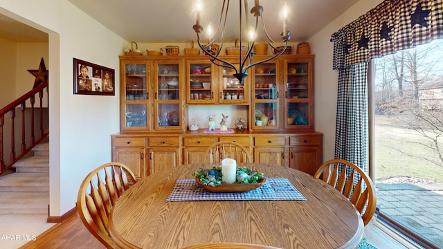
M 149 109 L 146 82 L 147 64 L 128 62 L 125 64 L 123 82 L 125 117 L 123 127 L 126 130 L 148 128 Z

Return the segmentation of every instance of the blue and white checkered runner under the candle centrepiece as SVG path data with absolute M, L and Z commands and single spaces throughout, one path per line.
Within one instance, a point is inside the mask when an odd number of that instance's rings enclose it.
M 249 192 L 210 192 L 197 185 L 195 178 L 179 178 L 166 201 L 250 201 L 298 200 L 306 201 L 287 178 L 266 178 L 266 183 Z

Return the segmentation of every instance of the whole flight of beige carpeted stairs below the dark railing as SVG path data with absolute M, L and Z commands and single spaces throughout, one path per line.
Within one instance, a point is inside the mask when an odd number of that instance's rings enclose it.
M 15 163 L 15 173 L 0 177 L 0 214 L 48 214 L 49 143 Z

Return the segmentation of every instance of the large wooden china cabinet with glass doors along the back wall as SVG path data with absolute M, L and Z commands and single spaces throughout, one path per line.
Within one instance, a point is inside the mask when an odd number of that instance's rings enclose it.
M 282 55 L 247 73 L 239 84 L 232 70 L 206 56 L 121 56 L 113 160 L 143 178 L 164 167 L 201 163 L 214 142 L 235 141 L 255 162 L 314 174 L 322 163 L 323 139 L 314 131 L 314 55 Z M 189 131 L 192 105 L 246 107 L 248 126 L 229 127 L 234 133 Z

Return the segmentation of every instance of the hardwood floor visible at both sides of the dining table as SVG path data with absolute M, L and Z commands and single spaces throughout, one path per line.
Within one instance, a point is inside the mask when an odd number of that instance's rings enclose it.
M 368 243 L 379 249 L 414 248 L 403 246 L 395 239 L 392 239 L 386 232 L 377 228 L 372 221 L 365 227 L 365 237 Z M 37 240 L 30 241 L 21 247 L 21 249 L 32 248 L 96 249 L 105 248 L 105 246 L 89 233 L 82 221 L 80 221 L 80 216 L 76 213 L 63 223 L 59 223 L 37 236 Z

